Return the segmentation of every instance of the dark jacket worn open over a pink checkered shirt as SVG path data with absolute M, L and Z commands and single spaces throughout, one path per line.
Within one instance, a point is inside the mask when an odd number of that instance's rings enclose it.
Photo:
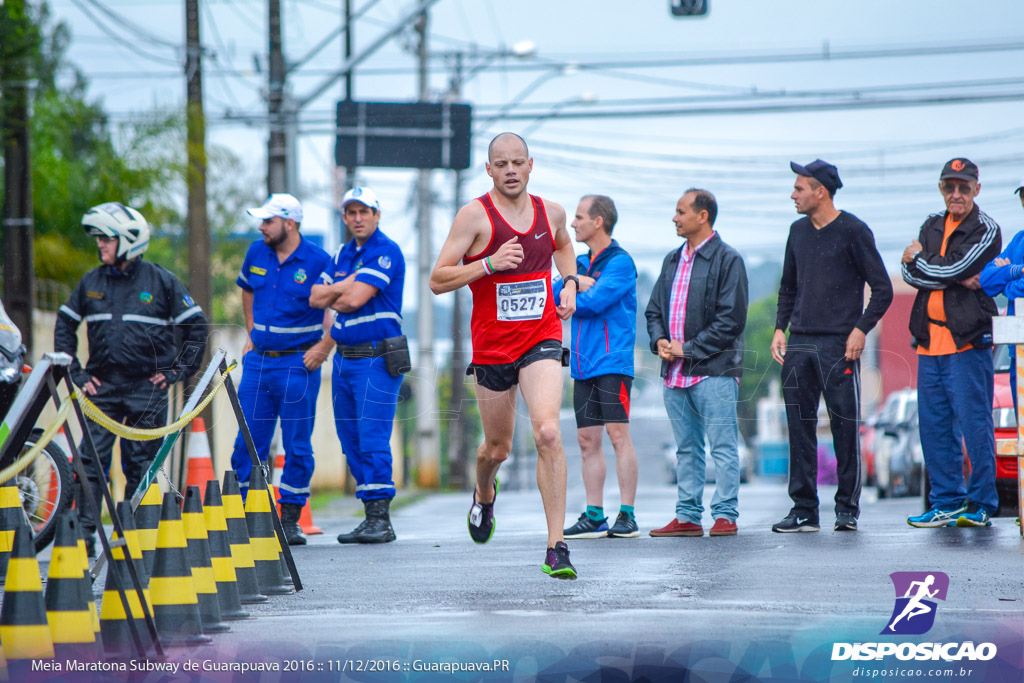
M 739 253 L 716 232 L 697 250 L 686 296 L 683 326 L 683 374 L 739 377 L 743 373 L 743 328 L 746 326 L 746 268 Z M 669 301 L 679 266 L 679 250 L 665 257 L 662 274 L 650 294 L 645 315 L 650 350 L 669 334 Z M 662 361 L 662 377 L 669 364 Z

